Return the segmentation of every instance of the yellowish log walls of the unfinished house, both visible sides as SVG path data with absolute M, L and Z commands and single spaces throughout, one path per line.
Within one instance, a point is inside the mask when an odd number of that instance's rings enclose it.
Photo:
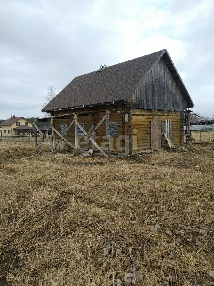
M 77 121 L 81 124 L 84 124 L 84 129 L 86 132 L 89 131 L 92 125 L 97 125 L 100 120 L 105 116 L 106 109 L 116 109 L 118 111 L 125 110 L 128 113 L 128 109 L 122 106 L 103 106 L 100 108 L 99 112 L 90 113 L 88 115 L 78 115 Z M 88 112 L 90 110 L 87 110 Z M 71 113 L 71 110 L 68 110 L 67 113 Z M 80 109 L 80 112 L 83 112 L 83 109 Z M 91 112 L 91 111 L 90 111 Z M 65 114 L 64 111 L 60 112 L 61 114 Z M 51 115 L 59 115 L 59 111 Z M 151 120 L 154 115 L 161 117 L 161 122 L 165 122 L 165 119 L 172 120 L 172 135 L 170 136 L 171 142 L 174 146 L 180 145 L 182 143 L 182 118 L 181 112 L 178 111 L 158 111 L 158 110 L 150 110 L 150 109 L 132 109 L 131 112 L 131 122 L 125 122 L 125 148 L 122 148 L 122 113 L 110 113 L 109 119 L 110 122 L 117 122 L 117 137 L 110 137 L 110 149 L 112 153 L 124 153 L 128 155 L 130 153 L 140 152 L 143 150 L 151 150 Z M 74 116 L 67 117 L 66 119 L 54 119 L 54 127 L 56 130 L 60 132 L 60 124 L 67 124 L 73 120 Z M 163 130 L 162 130 L 163 131 Z M 130 136 L 129 136 L 130 135 Z M 56 140 L 59 139 L 59 136 L 55 134 Z M 83 142 L 84 135 L 78 135 L 78 142 Z M 93 136 L 92 136 L 93 137 Z M 166 139 L 163 138 L 162 146 L 168 146 Z M 74 125 L 70 128 L 65 138 L 75 145 L 75 134 L 74 134 Z M 129 142 L 129 138 L 131 138 L 131 142 Z M 93 137 L 94 139 L 94 137 Z M 104 150 L 107 151 L 106 146 L 106 121 L 100 125 L 100 127 L 96 130 L 96 143 Z M 131 143 L 131 144 L 130 144 Z M 83 146 L 83 149 L 88 150 L 89 148 L 96 148 L 93 146 L 91 141 L 87 141 Z

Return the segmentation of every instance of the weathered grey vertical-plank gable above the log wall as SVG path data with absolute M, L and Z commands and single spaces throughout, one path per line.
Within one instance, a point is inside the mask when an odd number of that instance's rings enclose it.
M 127 103 L 133 108 L 164 111 L 181 111 L 187 108 L 187 103 L 163 58 L 146 74 Z

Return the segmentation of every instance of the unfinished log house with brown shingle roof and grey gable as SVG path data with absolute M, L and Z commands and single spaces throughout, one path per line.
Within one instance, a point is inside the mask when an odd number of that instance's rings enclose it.
M 111 154 L 127 156 L 166 146 L 165 129 L 171 142 L 180 145 L 183 111 L 192 107 L 193 101 L 164 49 L 75 77 L 42 111 L 51 114 L 55 130 L 64 134 L 74 114 L 87 133 L 109 110 Z M 169 121 L 165 125 L 166 119 Z M 78 126 L 73 124 L 64 137 L 78 147 L 85 133 L 74 125 Z M 58 139 L 57 132 L 53 132 Z M 94 137 L 105 151 L 107 132 L 108 123 L 103 122 Z M 67 142 L 65 147 L 73 148 Z M 91 142 L 90 139 L 83 147 L 94 148 Z

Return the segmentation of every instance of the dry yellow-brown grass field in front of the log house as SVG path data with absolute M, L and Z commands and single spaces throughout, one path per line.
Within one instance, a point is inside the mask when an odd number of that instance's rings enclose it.
M 214 150 L 189 149 L 108 161 L 0 143 L 0 285 L 211 285 Z

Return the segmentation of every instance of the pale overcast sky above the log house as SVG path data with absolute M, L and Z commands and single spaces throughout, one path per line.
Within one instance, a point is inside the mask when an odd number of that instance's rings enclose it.
M 212 116 L 213 14 L 213 0 L 1 0 L 0 119 L 41 116 L 48 86 L 165 48 Z

